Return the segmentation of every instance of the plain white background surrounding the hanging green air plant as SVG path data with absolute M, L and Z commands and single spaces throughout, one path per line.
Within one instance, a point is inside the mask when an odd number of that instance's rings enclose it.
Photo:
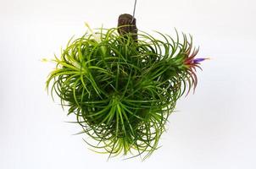
M 45 90 L 51 58 L 72 35 L 117 25 L 133 0 L 0 0 L 0 168 L 256 168 L 254 0 L 138 0 L 137 27 L 191 33 L 198 57 L 195 95 L 182 97 L 147 161 L 107 162 Z

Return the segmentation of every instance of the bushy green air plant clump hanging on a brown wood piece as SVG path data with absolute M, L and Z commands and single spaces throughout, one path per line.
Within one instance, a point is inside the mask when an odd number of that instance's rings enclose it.
M 89 28 L 55 57 L 47 79 L 47 89 L 93 140 L 86 143 L 109 157 L 145 159 L 157 150 L 176 101 L 195 90 L 196 68 L 206 59 L 195 58 L 191 35 L 156 38 L 135 21 L 125 14 L 118 28 Z

